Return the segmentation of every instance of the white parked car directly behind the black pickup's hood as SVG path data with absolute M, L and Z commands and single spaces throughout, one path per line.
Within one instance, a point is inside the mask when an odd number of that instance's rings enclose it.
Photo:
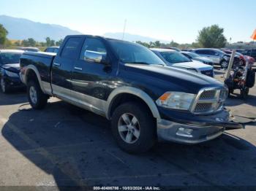
M 192 61 L 181 52 L 170 49 L 151 48 L 151 50 L 164 61 L 167 66 L 173 66 L 189 71 L 195 71 L 200 74 L 205 74 L 209 77 L 214 77 L 214 67 L 208 66 L 200 61 Z

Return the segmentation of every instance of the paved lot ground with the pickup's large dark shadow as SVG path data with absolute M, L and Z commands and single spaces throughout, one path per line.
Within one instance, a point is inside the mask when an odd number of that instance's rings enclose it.
M 226 105 L 256 115 L 255 98 L 256 87 Z M 0 93 L 1 186 L 256 186 L 256 123 L 207 143 L 128 155 L 104 118 L 56 98 L 42 111 L 26 103 L 25 93 Z

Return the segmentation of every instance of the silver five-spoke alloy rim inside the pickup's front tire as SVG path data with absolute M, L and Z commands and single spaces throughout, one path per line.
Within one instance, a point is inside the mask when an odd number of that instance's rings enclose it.
M 135 143 L 140 137 L 140 124 L 138 119 L 133 114 L 122 114 L 118 120 L 118 132 L 121 139 L 126 143 Z

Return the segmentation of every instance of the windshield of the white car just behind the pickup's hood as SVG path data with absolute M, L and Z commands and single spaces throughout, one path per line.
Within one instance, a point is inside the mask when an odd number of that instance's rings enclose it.
M 180 52 L 159 52 L 160 55 L 162 55 L 163 58 L 165 58 L 165 61 L 168 63 L 184 63 L 184 62 L 191 62 L 189 58 L 182 55 Z

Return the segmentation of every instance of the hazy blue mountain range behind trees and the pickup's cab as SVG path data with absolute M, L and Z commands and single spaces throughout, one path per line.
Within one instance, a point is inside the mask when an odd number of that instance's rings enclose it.
M 8 39 L 23 40 L 33 38 L 38 42 L 45 42 L 46 37 L 50 39 L 59 40 L 64 39 L 69 34 L 82 34 L 79 31 L 74 31 L 70 28 L 59 26 L 55 24 L 38 23 L 32 20 L 10 17 L 7 15 L 0 15 L 0 24 L 8 31 Z M 107 36 L 113 39 L 122 39 L 123 33 L 105 33 L 102 36 Z M 124 40 L 129 42 L 160 42 L 167 43 L 165 40 L 154 39 L 147 36 L 140 36 L 137 34 L 124 34 Z

